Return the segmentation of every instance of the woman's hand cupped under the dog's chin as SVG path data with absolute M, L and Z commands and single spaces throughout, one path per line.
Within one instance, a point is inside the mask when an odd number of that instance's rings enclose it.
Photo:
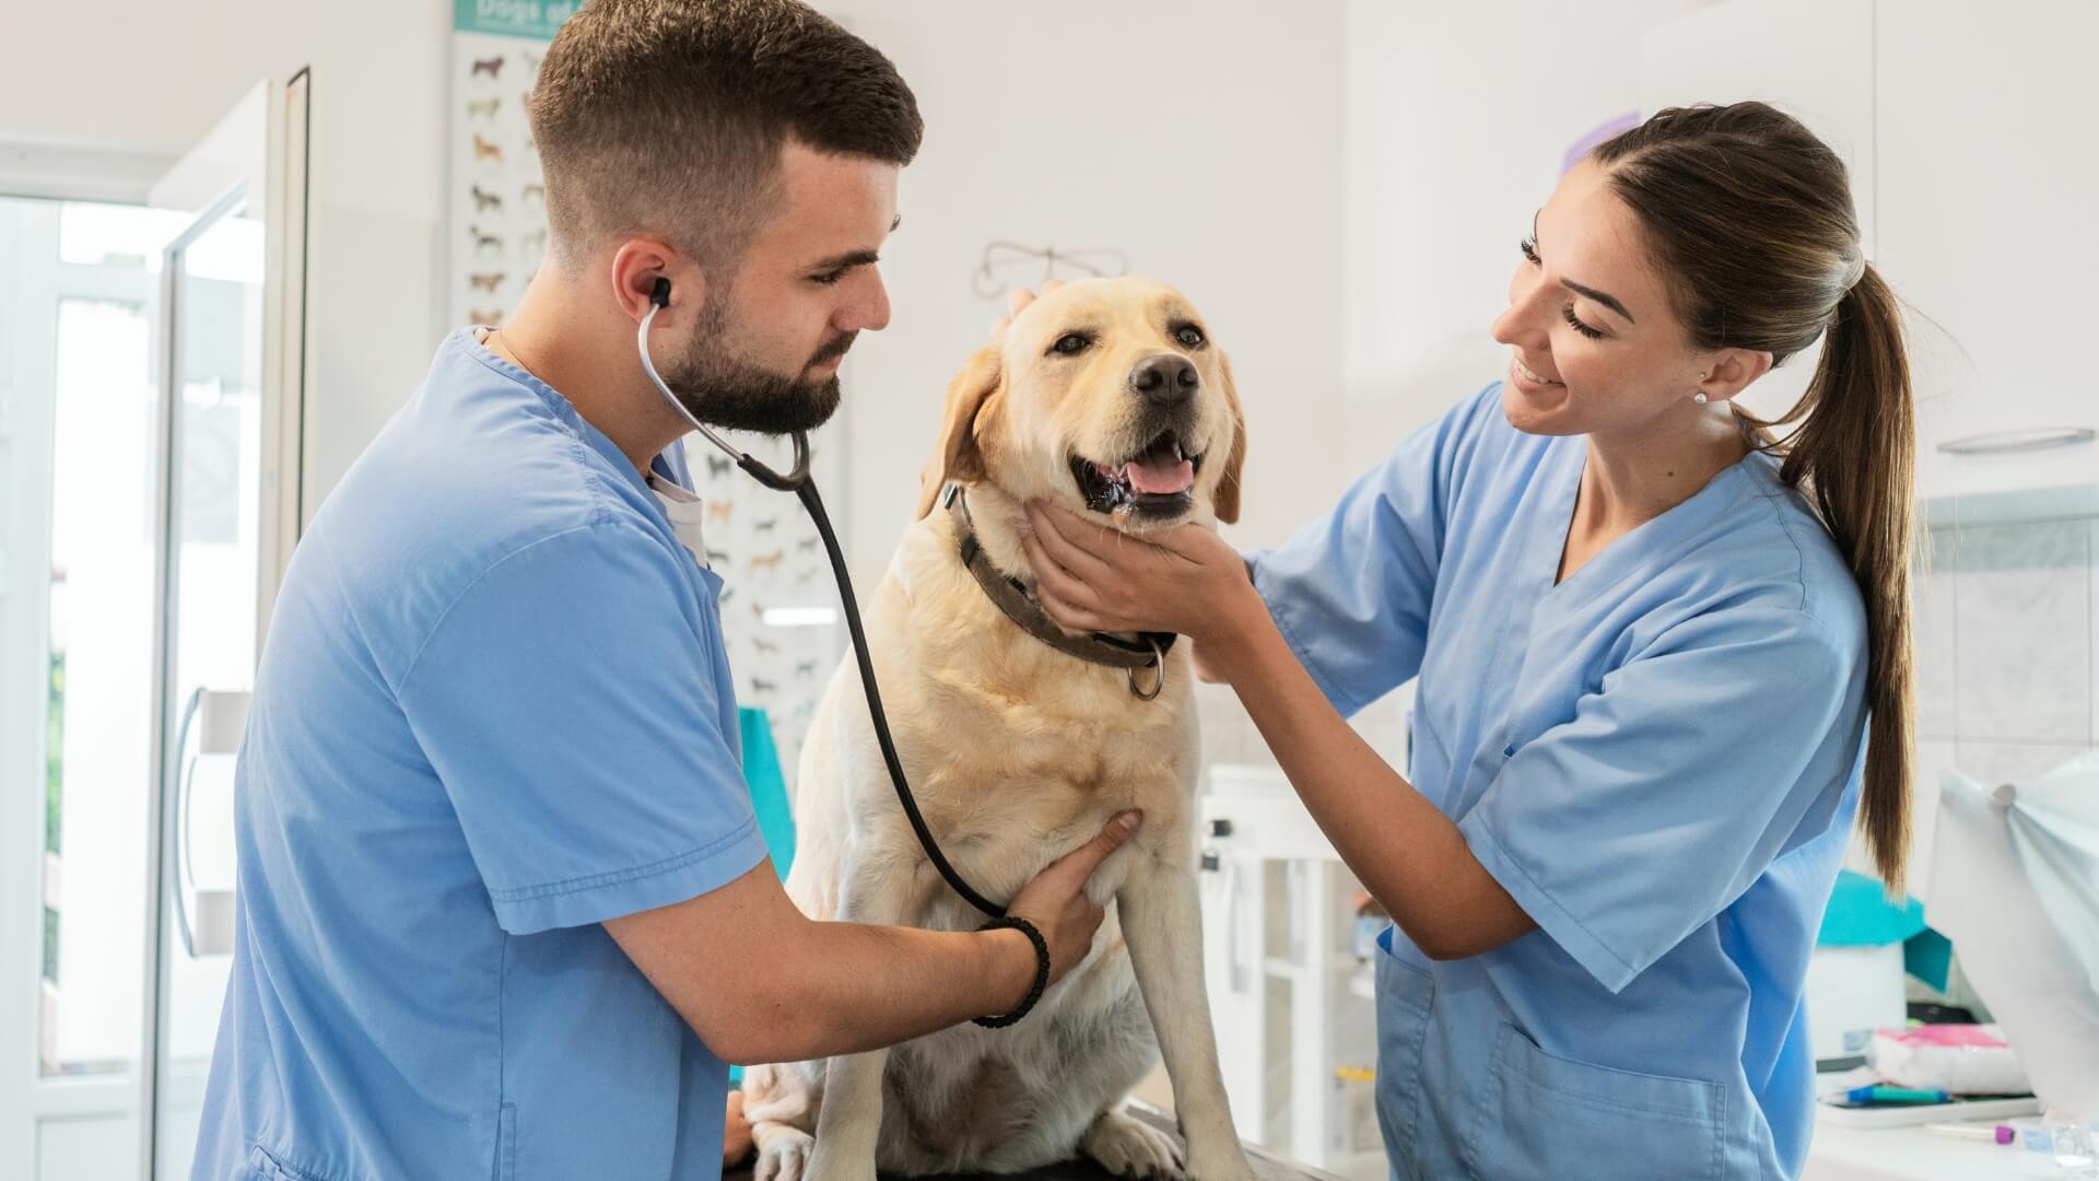
M 1259 595 L 1247 559 L 1203 525 L 1133 538 L 1056 504 L 1029 502 L 1020 546 L 1050 618 L 1100 633 L 1178 633 L 1194 643 L 1228 643 Z

